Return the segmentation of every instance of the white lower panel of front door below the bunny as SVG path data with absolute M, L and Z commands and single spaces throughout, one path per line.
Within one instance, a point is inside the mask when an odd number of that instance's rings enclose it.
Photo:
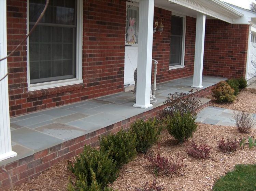
M 135 84 L 133 74 L 138 66 L 138 46 L 125 47 L 125 75 L 124 85 Z

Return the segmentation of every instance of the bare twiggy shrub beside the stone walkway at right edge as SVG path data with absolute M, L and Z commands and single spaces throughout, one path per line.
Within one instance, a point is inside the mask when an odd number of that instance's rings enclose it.
M 233 119 L 240 133 L 248 133 L 256 124 L 252 114 L 243 111 L 234 111 Z

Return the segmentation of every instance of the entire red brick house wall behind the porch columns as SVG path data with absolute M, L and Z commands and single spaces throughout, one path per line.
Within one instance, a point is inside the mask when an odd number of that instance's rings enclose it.
M 7 1 L 8 51 L 26 36 L 26 7 L 24 0 Z M 158 60 L 157 83 L 191 76 L 194 72 L 196 18 L 189 16 L 186 16 L 185 67 L 169 70 L 171 15 L 171 11 L 155 7 L 154 19 L 165 18 L 164 32 L 153 36 L 153 59 Z M 28 91 L 27 47 L 21 46 L 8 58 L 10 116 L 123 91 L 125 19 L 125 0 L 84 1 L 82 84 Z M 244 76 L 247 32 L 248 25 L 207 20 L 203 74 Z

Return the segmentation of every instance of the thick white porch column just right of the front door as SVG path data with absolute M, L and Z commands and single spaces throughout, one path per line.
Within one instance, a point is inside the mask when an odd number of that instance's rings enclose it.
M 134 107 L 148 108 L 150 104 L 154 0 L 141 0 L 139 11 L 139 47 L 136 104 Z

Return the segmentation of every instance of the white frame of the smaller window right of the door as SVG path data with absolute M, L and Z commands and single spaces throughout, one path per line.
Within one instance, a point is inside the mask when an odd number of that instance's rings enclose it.
M 185 39 L 186 39 L 186 15 L 181 15 L 178 13 L 173 13 L 172 15 L 183 18 L 183 36 L 182 36 L 182 51 L 181 51 L 181 64 L 176 66 L 169 66 L 169 70 L 184 68 L 185 67 Z

